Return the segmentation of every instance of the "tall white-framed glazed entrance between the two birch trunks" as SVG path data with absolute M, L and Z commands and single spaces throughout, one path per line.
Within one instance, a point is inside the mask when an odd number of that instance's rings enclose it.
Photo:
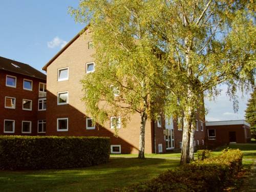
M 166 142 L 166 150 L 174 148 L 174 123 L 172 117 L 165 117 L 164 140 Z

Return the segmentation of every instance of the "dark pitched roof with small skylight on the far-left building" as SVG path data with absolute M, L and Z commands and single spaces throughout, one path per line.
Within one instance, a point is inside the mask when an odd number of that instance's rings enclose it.
M 10 71 L 38 79 L 46 80 L 46 75 L 32 68 L 28 64 L 14 61 L 5 57 L 0 56 L 0 70 Z

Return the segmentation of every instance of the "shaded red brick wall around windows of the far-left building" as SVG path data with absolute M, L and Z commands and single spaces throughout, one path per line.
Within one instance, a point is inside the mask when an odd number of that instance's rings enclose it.
M 6 75 L 16 77 L 16 88 L 6 87 Z M 33 81 L 33 90 L 23 89 L 23 79 Z M 0 70 L 0 135 L 37 135 L 37 120 L 46 119 L 45 111 L 38 111 L 39 82 L 46 82 L 37 78 Z M 15 109 L 5 108 L 5 97 L 15 97 Z M 32 111 L 22 109 L 23 99 L 32 100 Z M 4 133 L 4 119 L 15 120 L 15 132 Z M 32 121 L 31 134 L 22 133 L 22 121 Z

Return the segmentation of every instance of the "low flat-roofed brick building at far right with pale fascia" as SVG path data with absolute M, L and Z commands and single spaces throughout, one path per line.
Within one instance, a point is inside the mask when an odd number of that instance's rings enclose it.
M 250 124 L 245 120 L 211 121 L 205 124 L 209 146 L 247 143 L 251 139 Z

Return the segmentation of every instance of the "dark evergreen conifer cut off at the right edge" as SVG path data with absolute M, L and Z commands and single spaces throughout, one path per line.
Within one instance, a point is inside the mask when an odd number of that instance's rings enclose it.
M 248 100 L 245 110 L 245 119 L 251 125 L 251 135 L 256 137 L 256 89 L 251 93 L 251 98 Z

